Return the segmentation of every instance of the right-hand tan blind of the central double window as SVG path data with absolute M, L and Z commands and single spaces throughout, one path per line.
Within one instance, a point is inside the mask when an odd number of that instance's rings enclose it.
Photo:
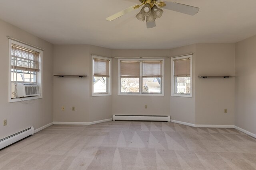
M 142 77 L 162 77 L 162 61 L 142 61 Z

